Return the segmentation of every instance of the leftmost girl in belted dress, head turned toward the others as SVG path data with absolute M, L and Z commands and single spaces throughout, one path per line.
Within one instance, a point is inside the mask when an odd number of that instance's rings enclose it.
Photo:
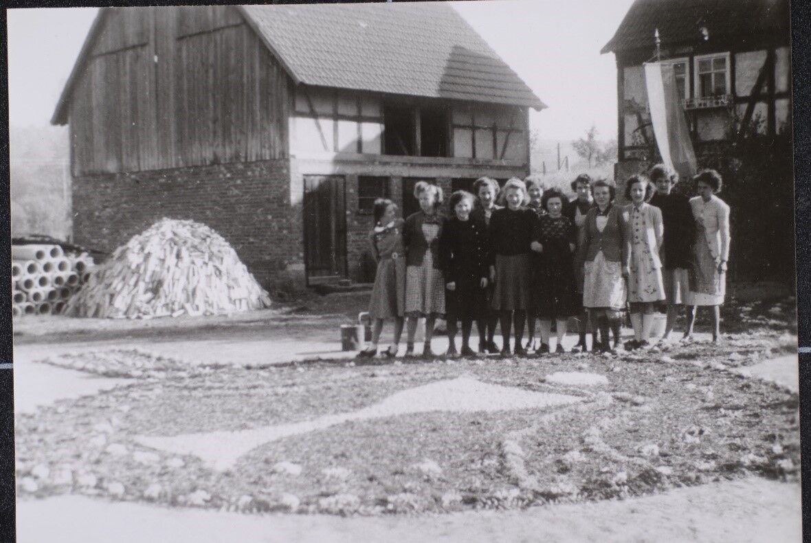
M 397 355 L 405 315 L 405 251 L 403 250 L 403 220 L 397 217 L 397 204 L 392 200 L 375 200 L 375 228 L 369 233 L 371 256 L 377 262 L 375 286 L 371 289 L 369 315 L 374 320 L 371 345 L 358 356 L 371 358 L 377 354 L 377 343 L 383 331 L 383 321 L 394 321 L 394 341 L 386 356 Z

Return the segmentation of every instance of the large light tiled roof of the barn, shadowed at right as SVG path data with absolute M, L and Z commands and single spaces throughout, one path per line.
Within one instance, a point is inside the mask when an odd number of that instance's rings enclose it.
M 242 6 L 299 83 L 546 107 L 453 8 L 431 2 Z

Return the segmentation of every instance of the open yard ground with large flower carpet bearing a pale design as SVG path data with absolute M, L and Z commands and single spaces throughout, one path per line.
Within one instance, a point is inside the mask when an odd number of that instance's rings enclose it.
M 410 527 L 432 541 L 527 541 L 541 526 L 556 541 L 722 541 L 725 529 L 791 541 L 794 301 L 739 292 L 722 346 L 700 320 L 686 345 L 512 360 L 359 364 L 338 350 L 338 327 L 363 293 L 233 317 L 23 319 L 20 541 L 41 541 L 28 519 L 56 510 L 289 536 L 244 541 L 316 541 L 301 514 L 333 541 L 418 541 Z M 740 522 L 711 522 L 709 503 Z

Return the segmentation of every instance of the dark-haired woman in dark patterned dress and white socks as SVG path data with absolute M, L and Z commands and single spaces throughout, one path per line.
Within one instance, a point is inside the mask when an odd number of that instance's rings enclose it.
M 549 352 L 551 323 L 556 321 L 556 352 L 565 352 L 563 338 L 567 319 L 577 315 L 577 282 L 573 274 L 575 227 L 563 215 L 565 197 L 551 189 L 543 194 L 543 207 L 547 214 L 535 224 L 530 247 L 539 256 L 534 269 L 533 308 L 541 321 L 540 352 Z

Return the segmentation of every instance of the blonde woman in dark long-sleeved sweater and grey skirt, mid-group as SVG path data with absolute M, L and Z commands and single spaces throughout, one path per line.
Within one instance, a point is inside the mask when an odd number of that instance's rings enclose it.
M 490 280 L 495 282 L 490 307 L 499 313 L 504 343 L 501 354 L 510 354 L 510 332 L 515 324 L 515 354 L 526 355 L 521 346 L 530 305 L 530 243 L 538 215 L 526 204 L 526 185 L 521 179 L 504 184 L 507 207 L 493 212 L 488 228 L 492 262 Z

